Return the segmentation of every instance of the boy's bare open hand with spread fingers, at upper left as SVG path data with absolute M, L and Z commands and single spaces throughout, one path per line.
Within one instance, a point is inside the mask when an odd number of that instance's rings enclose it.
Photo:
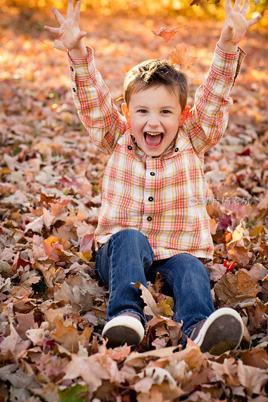
M 75 54 L 77 54 L 77 56 L 78 54 L 83 54 L 80 57 L 87 57 L 87 50 L 82 42 L 82 38 L 86 35 L 86 32 L 81 32 L 79 28 L 81 1 L 79 0 L 76 3 L 74 11 L 72 2 L 73 0 L 68 0 L 66 20 L 56 9 L 56 7 L 52 7 L 52 11 L 60 23 L 60 28 L 52 28 L 47 26 L 44 28 L 49 32 L 53 32 L 58 35 L 61 38 L 65 48 L 72 51 L 73 57 L 75 57 Z

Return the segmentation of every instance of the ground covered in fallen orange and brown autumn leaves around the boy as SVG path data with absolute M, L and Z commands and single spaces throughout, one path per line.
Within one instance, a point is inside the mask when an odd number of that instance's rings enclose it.
M 196 7 L 196 6 L 195 6 Z M 5 11 L 0 32 L 0 400 L 163 402 L 268 399 L 267 37 L 253 28 L 232 89 L 228 129 L 205 157 L 215 251 L 205 265 L 215 307 L 244 322 L 241 347 L 203 354 L 177 347 L 180 324 L 161 278 L 142 289 L 152 318 L 138 347 L 107 349 L 107 288 L 94 275 L 94 231 L 107 157 L 88 139 L 70 90 L 66 53 L 42 28 L 47 15 Z M 49 10 L 48 10 L 49 11 Z M 186 25 L 168 42 L 151 33 Z M 81 29 L 114 99 L 124 73 L 186 42 L 189 104 L 222 22 L 85 12 Z M 50 46 L 49 46 L 50 45 Z M 267 55 L 267 54 L 266 54 Z M 122 99 L 116 104 L 120 108 Z

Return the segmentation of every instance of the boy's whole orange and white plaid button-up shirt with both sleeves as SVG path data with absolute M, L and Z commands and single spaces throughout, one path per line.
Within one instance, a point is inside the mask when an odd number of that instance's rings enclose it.
M 79 118 L 91 141 L 109 156 L 96 251 L 112 234 L 130 228 L 147 237 L 154 260 L 180 253 L 213 259 L 204 153 L 226 129 L 229 93 L 246 53 L 240 48 L 225 53 L 217 45 L 185 124 L 163 154 L 151 157 L 135 142 L 95 68 L 92 48 L 86 48 L 87 58 L 72 59 L 68 54 L 68 61 Z

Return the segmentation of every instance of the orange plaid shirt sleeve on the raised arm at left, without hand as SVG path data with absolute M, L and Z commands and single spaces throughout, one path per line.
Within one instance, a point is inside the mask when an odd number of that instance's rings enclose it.
M 91 141 L 111 155 L 126 129 L 126 119 L 117 110 L 111 93 L 94 63 L 93 49 L 88 57 L 74 59 L 68 52 L 72 94 L 78 116 Z

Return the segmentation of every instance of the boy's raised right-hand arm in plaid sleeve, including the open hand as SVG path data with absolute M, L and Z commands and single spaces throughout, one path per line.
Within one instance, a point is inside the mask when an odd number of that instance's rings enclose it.
M 225 1 L 226 20 L 217 44 L 209 72 L 195 96 L 195 105 L 186 121 L 188 135 L 197 153 L 205 153 L 223 136 L 232 99 L 229 94 L 246 55 L 238 48 L 247 29 L 261 16 L 246 21 L 248 0 L 240 10 L 241 0 L 234 8 Z

